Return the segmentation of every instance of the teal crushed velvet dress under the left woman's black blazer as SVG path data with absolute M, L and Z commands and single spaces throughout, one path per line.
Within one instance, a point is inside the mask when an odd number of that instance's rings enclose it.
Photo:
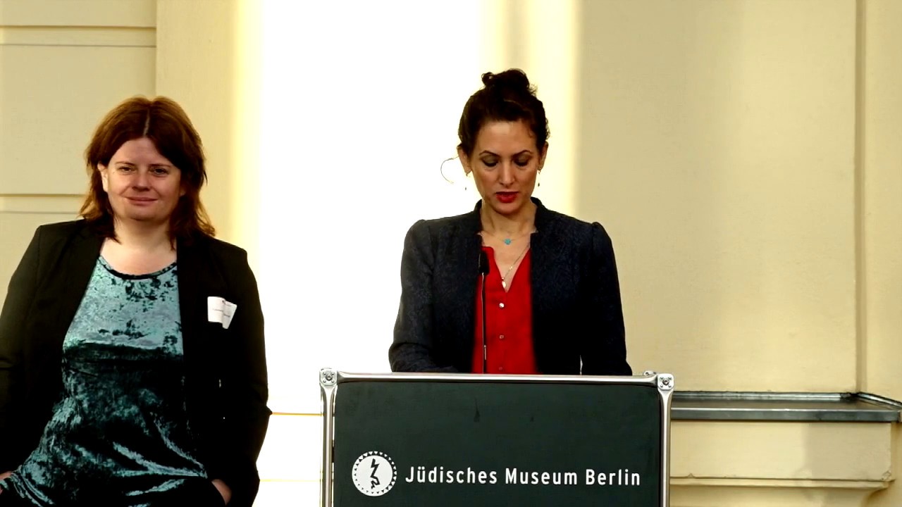
M 179 321 L 175 263 L 132 276 L 98 258 L 63 341 L 62 397 L 0 488 L 41 506 L 173 505 L 186 484 L 216 494 L 187 420 Z

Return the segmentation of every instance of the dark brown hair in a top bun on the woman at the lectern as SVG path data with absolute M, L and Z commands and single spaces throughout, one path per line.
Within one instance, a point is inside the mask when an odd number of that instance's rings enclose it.
M 536 147 L 541 152 L 548 141 L 548 118 L 545 106 L 536 97 L 536 87 L 529 84 L 526 73 L 520 69 L 508 69 L 501 74 L 483 74 L 483 88 L 476 91 L 464 106 L 457 127 L 460 138 L 458 148 L 472 155 L 479 130 L 489 122 L 524 121 L 536 136 Z

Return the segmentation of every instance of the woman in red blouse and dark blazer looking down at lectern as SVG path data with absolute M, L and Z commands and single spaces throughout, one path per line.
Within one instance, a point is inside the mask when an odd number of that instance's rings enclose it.
M 483 85 L 457 145 L 482 198 L 410 227 L 391 370 L 630 375 L 611 239 L 532 197 L 548 154 L 535 88 L 519 69 Z

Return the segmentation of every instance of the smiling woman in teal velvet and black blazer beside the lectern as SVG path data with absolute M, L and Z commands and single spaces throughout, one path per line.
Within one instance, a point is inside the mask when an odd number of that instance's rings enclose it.
M 0 507 L 251 507 L 271 411 L 257 283 L 167 97 L 111 110 L 81 219 L 40 226 L 0 310 Z

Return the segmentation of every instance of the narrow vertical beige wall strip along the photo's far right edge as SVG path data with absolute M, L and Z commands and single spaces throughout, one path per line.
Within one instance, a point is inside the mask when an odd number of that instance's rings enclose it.
M 862 14 L 860 376 L 863 390 L 902 400 L 902 3 Z

